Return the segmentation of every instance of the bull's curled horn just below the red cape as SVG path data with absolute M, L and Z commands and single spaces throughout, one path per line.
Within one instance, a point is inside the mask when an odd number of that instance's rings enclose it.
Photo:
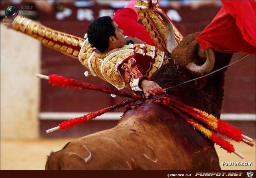
M 206 62 L 203 65 L 197 65 L 194 62 L 191 62 L 186 65 L 186 68 L 195 75 L 204 75 L 210 73 L 211 69 L 215 63 L 214 51 L 211 48 L 208 48 L 206 51 Z M 198 56 L 202 57 L 202 51 L 198 51 Z

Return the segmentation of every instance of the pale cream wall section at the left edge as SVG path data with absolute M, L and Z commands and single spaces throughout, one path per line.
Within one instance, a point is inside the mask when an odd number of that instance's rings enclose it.
M 38 138 L 41 45 L 1 24 L 1 139 Z

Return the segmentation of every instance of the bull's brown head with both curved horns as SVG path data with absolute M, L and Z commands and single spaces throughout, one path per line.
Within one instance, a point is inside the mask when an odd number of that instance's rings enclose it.
M 175 45 L 173 25 L 169 18 L 161 11 L 157 13 L 163 19 L 167 31 L 167 51 L 172 54 L 173 60 L 187 69 L 191 74 L 204 75 L 210 73 L 215 63 L 214 51 L 211 48 L 203 50 L 195 37 L 200 33 L 186 36 L 180 44 Z

